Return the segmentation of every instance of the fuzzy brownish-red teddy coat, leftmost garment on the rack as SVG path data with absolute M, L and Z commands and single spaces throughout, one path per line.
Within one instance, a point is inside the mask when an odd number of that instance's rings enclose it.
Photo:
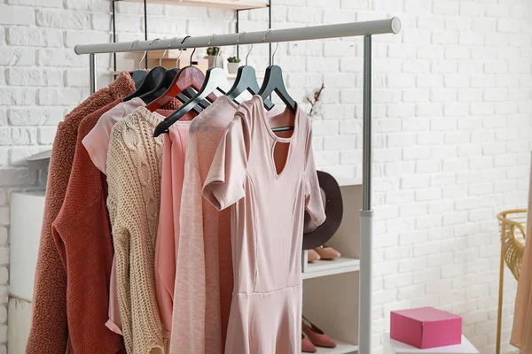
M 135 83 L 129 73 L 121 73 L 108 88 L 98 90 L 59 123 L 51 151 L 27 354 L 72 352 L 66 319 L 66 271 L 51 233 L 51 223 L 56 219 L 66 194 L 80 122 L 90 113 L 134 91 Z

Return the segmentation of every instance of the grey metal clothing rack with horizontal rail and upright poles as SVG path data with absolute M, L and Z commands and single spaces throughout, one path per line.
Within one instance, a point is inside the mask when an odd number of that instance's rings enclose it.
M 90 55 L 90 92 L 96 90 L 96 58 L 99 53 L 167 50 L 231 46 L 274 42 L 295 42 L 340 37 L 364 36 L 364 116 L 363 116 L 363 209 L 360 211 L 360 278 L 358 312 L 358 352 L 372 352 L 372 35 L 397 34 L 397 18 L 338 25 L 274 29 L 231 35 L 186 36 L 181 41 L 136 41 L 76 45 L 76 54 Z

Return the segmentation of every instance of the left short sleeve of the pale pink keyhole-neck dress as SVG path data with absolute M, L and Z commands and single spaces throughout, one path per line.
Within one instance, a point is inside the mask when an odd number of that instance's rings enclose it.
M 245 196 L 249 142 L 249 128 L 244 117 L 237 114 L 218 145 L 202 190 L 203 196 L 219 211 Z

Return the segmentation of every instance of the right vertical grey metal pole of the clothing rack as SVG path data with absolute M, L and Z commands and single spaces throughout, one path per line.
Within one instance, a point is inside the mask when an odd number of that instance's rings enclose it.
M 372 352 L 372 36 L 364 35 L 363 209 L 360 212 L 358 352 Z

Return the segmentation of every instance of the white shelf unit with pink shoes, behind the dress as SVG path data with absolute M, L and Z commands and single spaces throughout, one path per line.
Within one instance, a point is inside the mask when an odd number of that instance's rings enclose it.
M 358 350 L 358 294 L 360 270 L 361 185 L 343 184 L 344 218 L 328 246 L 342 258 L 306 263 L 303 256 L 303 314 L 337 343 L 336 348 L 318 348 L 320 354 L 347 354 Z

